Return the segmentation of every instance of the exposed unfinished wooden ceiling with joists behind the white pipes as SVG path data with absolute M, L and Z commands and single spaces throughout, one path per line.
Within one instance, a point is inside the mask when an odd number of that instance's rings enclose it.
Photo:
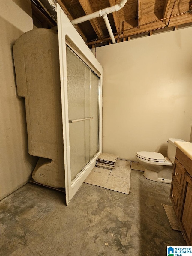
M 121 0 L 31 0 L 56 1 L 69 20 L 118 4 Z M 41 11 L 41 10 L 40 10 Z M 39 17 L 39 14 L 37 15 Z M 38 19 L 37 17 L 37 19 Z M 148 35 L 155 30 L 164 32 L 192 26 L 192 0 L 128 0 L 118 12 L 108 15 L 116 42 Z M 111 40 L 102 17 L 76 25 L 84 41 L 91 45 L 109 44 Z M 117 31 L 117 32 L 116 32 Z M 112 33 L 112 34 L 113 34 Z

